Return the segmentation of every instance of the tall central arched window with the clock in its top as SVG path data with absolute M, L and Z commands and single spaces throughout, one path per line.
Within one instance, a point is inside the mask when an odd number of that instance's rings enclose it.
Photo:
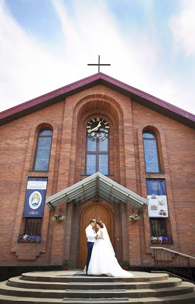
M 99 126 L 99 127 L 98 127 Z M 86 175 L 109 174 L 109 126 L 104 119 L 92 119 L 87 126 Z

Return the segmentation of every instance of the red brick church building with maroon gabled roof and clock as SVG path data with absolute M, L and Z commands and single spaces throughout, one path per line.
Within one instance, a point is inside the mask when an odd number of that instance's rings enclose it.
M 153 246 L 194 256 L 194 129 L 101 72 L 1 112 L 0 265 L 84 268 L 91 218 L 130 267 Z

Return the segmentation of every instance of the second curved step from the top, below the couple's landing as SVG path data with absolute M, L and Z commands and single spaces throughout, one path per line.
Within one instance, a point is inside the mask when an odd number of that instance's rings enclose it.
M 21 276 L 10 278 L 9 286 L 36 289 L 145 289 L 145 288 L 165 288 L 178 286 L 182 283 L 179 278 L 169 278 L 164 281 L 155 282 L 35 282 L 22 280 Z

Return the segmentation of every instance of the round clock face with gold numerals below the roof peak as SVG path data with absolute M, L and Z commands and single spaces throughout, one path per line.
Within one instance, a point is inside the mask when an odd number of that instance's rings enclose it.
M 105 140 L 109 133 L 109 124 L 102 118 L 92 118 L 87 123 L 87 132 L 88 136 L 95 140 L 99 138 L 99 140 Z

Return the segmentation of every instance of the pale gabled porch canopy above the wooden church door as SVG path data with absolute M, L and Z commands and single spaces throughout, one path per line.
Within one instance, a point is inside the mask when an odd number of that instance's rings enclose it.
M 148 205 L 148 201 L 146 199 L 111 180 L 100 172 L 96 172 L 74 185 L 52 195 L 51 197 L 48 197 L 46 199 L 46 204 L 51 209 L 54 209 L 63 201 L 82 203 L 95 196 L 99 196 L 112 203 L 120 203 L 122 201 L 133 204 L 138 207 L 139 211 L 143 211 Z

